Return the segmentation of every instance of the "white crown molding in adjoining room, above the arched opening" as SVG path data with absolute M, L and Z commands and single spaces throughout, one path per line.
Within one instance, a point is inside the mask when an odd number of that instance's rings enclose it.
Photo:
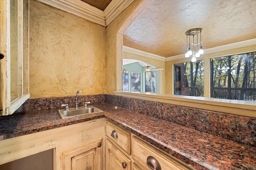
M 132 47 L 127 47 L 125 45 L 123 45 L 123 51 L 127 52 L 127 53 L 136 54 L 136 55 L 141 55 L 143 57 L 148 57 L 148 58 L 151 58 L 151 59 L 160 60 L 160 61 L 165 61 L 166 60 L 165 57 L 162 57 L 160 55 L 155 55 L 155 54 L 152 54 L 152 53 L 148 53 L 148 52 L 145 52 L 145 51 L 134 49 Z

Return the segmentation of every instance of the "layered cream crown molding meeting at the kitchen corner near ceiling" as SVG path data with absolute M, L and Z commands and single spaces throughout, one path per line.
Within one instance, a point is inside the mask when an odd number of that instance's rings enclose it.
M 134 0 L 112 0 L 104 11 L 81 0 L 38 1 L 106 27 Z

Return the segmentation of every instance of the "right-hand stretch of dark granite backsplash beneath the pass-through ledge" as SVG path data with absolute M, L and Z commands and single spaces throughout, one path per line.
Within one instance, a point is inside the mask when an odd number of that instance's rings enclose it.
M 256 118 L 122 96 L 106 95 L 105 102 L 256 147 Z

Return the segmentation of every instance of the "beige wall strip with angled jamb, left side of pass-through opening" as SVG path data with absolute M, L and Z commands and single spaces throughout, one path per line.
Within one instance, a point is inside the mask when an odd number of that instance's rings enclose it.
M 106 94 L 122 90 L 122 34 L 152 0 L 135 0 L 106 28 Z

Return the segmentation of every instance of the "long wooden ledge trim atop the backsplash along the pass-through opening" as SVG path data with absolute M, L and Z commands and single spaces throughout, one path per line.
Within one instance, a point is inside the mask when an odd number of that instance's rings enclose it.
M 162 102 L 196 109 L 216 111 L 220 113 L 230 113 L 248 117 L 256 117 L 256 102 L 246 102 L 239 100 L 225 100 L 195 96 L 178 96 L 171 94 L 150 94 L 145 92 L 114 92 L 116 96 Z

